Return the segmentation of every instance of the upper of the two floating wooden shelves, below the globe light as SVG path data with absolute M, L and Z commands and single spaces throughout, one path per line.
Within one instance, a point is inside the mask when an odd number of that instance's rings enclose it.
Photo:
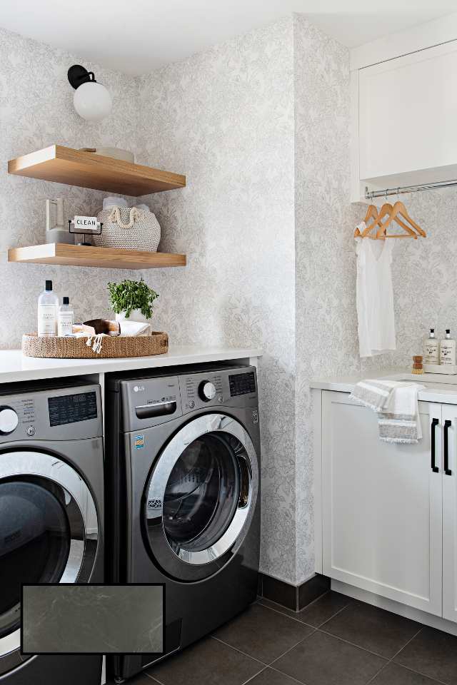
M 61 145 L 11 159 L 8 173 L 134 197 L 186 186 L 186 176 L 179 173 Z

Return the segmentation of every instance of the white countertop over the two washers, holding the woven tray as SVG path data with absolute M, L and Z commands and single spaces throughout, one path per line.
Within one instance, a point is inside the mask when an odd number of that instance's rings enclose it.
M 0 350 L 0 383 L 221 362 L 261 357 L 261 355 L 262 351 L 258 347 L 204 347 L 203 345 L 170 345 L 165 355 L 121 359 L 43 359 L 24 357 L 21 350 Z

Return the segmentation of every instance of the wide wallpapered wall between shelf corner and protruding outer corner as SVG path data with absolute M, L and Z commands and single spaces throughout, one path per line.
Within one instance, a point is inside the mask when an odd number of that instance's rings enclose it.
M 259 345 L 261 570 L 295 581 L 293 21 L 141 78 L 144 163 L 187 186 L 150 196 L 183 270 L 144 272 L 174 342 Z

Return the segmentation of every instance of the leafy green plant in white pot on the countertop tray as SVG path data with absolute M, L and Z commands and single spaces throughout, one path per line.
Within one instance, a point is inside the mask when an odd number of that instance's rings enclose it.
M 108 283 L 108 290 L 116 321 L 148 321 L 152 317 L 154 300 L 159 295 L 142 278 Z

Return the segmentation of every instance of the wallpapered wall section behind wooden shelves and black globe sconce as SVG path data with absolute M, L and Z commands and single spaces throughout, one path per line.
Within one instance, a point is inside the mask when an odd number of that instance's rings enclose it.
M 114 99 L 101 123 L 84 121 L 73 107 L 66 72 L 84 64 Z M 20 347 L 21 335 L 36 330 L 36 300 L 51 278 L 69 295 L 76 320 L 108 315 L 106 283 L 130 272 L 7 263 L 9 247 L 44 242 L 45 200 L 65 198 L 66 218 L 93 215 L 106 193 L 33 178 L 9 176 L 9 159 L 54 143 L 74 148 L 110 145 L 136 152 L 139 110 L 136 79 L 109 71 L 37 41 L 0 29 L 0 349 Z

